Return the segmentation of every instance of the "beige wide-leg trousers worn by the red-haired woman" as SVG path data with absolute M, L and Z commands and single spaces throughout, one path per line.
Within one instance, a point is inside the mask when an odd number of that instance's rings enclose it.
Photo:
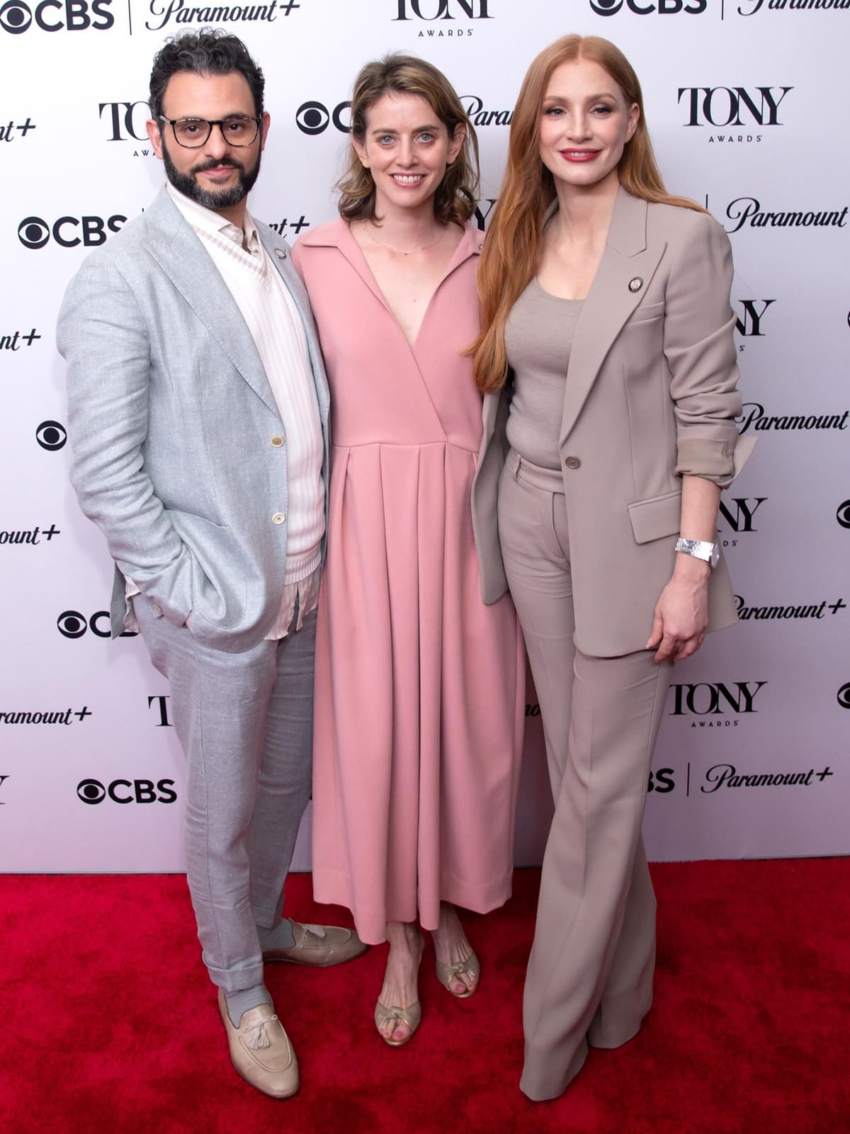
M 671 666 L 648 650 L 594 658 L 576 649 L 560 471 L 509 454 L 499 536 L 555 802 L 526 976 L 520 1089 L 553 1099 L 588 1043 L 624 1043 L 652 1004 L 655 896 L 640 824 Z M 647 636 L 651 628 L 647 618 Z

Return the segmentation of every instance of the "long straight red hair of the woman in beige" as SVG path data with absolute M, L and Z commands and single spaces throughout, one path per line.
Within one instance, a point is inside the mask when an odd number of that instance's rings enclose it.
M 637 128 L 626 143 L 618 174 L 632 196 L 661 204 L 705 211 L 664 188 L 644 119 L 640 83 L 626 56 L 597 35 L 566 35 L 545 48 L 522 81 L 511 121 L 508 164 L 478 263 L 481 333 L 470 348 L 475 381 L 485 392 L 499 390 L 508 376 L 504 327 L 513 304 L 534 278 L 543 251 L 543 217 L 555 198 L 554 178 L 539 156 L 543 99 L 552 71 L 561 64 L 587 59 L 598 64 L 622 91 L 628 105 L 640 110 Z

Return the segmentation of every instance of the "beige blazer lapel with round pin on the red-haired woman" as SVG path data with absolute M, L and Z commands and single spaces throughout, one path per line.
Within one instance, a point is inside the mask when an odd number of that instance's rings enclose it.
M 620 188 L 605 251 L 576 325 L 567 367 L 561 446 L 578 420 L 605 355 L 646 295 L 664 254 L 665 243 L 647 247 L 646 212 L 646 201 Z M 635 280 L 641 281 L 639 287 L 635 287 Z

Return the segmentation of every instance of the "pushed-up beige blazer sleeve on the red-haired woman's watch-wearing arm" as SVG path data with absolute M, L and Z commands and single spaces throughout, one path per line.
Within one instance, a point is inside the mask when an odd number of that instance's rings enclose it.
M 730 306 L 732 251 L 729 237 L 707 213 L 688 211 L 688 228 L 670 269 L 664 311 L 675 472 L 725 488 L 753 449 L 734 423 L 741 397 Z

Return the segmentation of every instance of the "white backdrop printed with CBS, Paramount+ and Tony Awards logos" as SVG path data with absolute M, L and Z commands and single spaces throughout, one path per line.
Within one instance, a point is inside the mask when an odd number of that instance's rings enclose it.
M 202 0 L 203 2 L 203 0 Z M 640 76 L 668 186 L 734 251 L 743 433 L 720 539 L 741 621 L 677 668 L 648 785 L 651 858 L 850 853 L 850 0 L 0 0 L 0 869 L 180 870 L 182 756 L 141 638 L 108 637 L 111 562 L 68 485 L 65 285 L 162 183 L 150 64 L 204 25 L 245 40 L 272 129 L 255 215 L 335 214 L 359 66 L 400 49 L 478 129 L 479 223 L 526 66 L 567 32 Z M 601 538 L 604 534 L 601 533 Z M 517 862 L 549 823 L 527 708 Z M 296 865 L 309 866 L 309 815 Z

